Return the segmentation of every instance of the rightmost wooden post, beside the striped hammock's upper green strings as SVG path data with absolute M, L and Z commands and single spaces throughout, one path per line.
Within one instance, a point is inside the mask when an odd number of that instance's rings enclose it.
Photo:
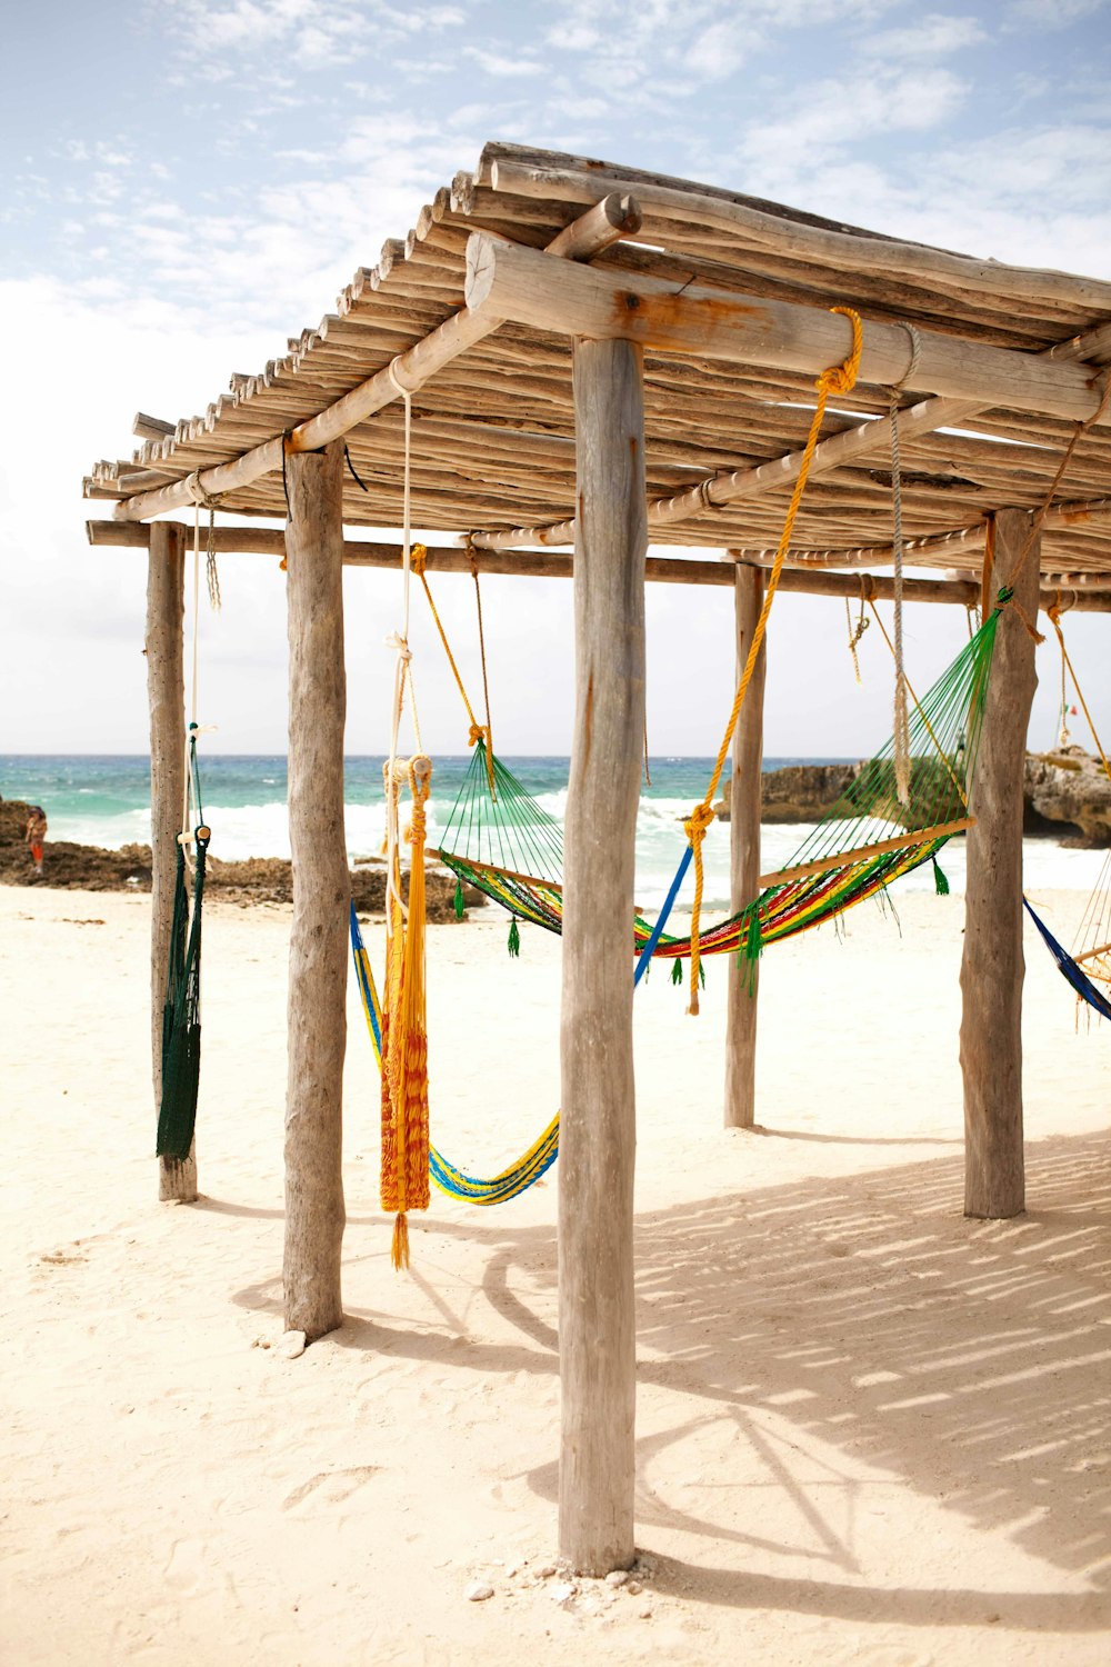
M 1023 1172 L 1023 770 L 1038 687 L 1034 642 L 1019 608 L 1038 613 L 1031 517 L 999 510 L 993 588 L 1014 587 L 999 618 L 973 780 L 961 960 L 964 1214 L 993 1220 L 1026 1207 Z M 1019 565 L 1021 563 L 1021 565 Z

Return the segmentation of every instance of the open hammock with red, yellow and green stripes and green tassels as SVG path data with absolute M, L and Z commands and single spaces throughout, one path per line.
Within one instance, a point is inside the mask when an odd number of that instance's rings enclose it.
M 760 897 L 701 932 L 701 954 L 755 959 L 778 942 L 830 920 L 884 892 L 893 880 L 934 862 L 938 890 L 948 890 L 936 854 L 968 823 L 988 673 L 999 608 L 984 620 L 929 692 L 909 702 L 909 793 L 896 790 L 893 743 L 861 765 L 841 798 L 791 860 L 768 875 Z M 490 775 L 493 773 L 493 788 Z M 883 849 L 876 849 L 883 847 Z M 460 880 L 476 885 L 516 919 L 560 932 L 563 925 L 563 840 L 560 823 L 495 758 L 490 772 L 478 742 L 440 839 L 440 857 Z M 806 872 L 801 872 L 806 870 Z M 643 949 L 651 925 L 633 924 L 630 950 Z M 661 934 L 653 955 L 686 959 L 690 937 Z

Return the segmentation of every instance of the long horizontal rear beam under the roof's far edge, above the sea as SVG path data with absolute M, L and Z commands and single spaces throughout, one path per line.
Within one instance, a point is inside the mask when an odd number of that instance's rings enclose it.
M 175 523 L 170 523 L 175 525 Z M 88 542 L 97 548 L 145 550 L 150 542 L 150 527 L 138 522 L 85 522 Z M 217 555 L 285 555 L 281 532 L 272 527 L 217 527 Z M 670 585 L 720 585 L 733 588 L 733 565 L 736 560 L 751 560 L 750 552 L 731 552 L 728 560 L 700 562 L 678 555 L 650 555 L 645 577 L 653 583 Z M 573 573 L 573 557 L 555 550 L 476 550 L 475 563 L 481 575 L 508 575 L 515 578 L 570 578 Z M 380 543 L 366 538 L 346 538 L 343 542 L 345 567 L 401 568 L 401 545 Z M 428 545 L 430 573 L 471 573 L 471 557 L 456 545 Z M 751 565 L 763 565 L 751 562 Z M 836 573 L 808 568 L 785 568 L 780 577 L 780 590 L 786 595 L 806 597 L 849 597 L 856 600 L 861 593 L 861 577 L 858 573 Z M 869 593 L 876 602 L 891 602 L 894 597 L 894 580 L 888 573 L 869 575 Z M 1086 588 L 1103 583 L 1108 588 Z M 1043 603 L 1049 605 L 1058 590 L 1076 592 L 1071 607 L 1076 612 L 1111 613 L 1111 573 L 1063 573 L 1043 580 Z M 903 597 L 906 602 L 929 602 L 969 607 L 979 600 L 979 582 L 973 578 L 904 578 Z

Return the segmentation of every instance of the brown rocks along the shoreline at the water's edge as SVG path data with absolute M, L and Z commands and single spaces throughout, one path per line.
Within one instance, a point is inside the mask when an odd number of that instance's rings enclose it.
M 795 763 L 766 770 L 763 777 L 761 822 L 816 822 L 841 797 L 859 763 Z M 728 822 L 728 798 L 718 812 Z M 87 892 L 148 892 L 150 845 L 77 845 L 47 839 L 45 874 L 35 875 L 23 832 L 30 805 L 0 798 L 0 882 L 5 885 L 52 885 Z M 50 805 L 47 805 L 50 813 Z M 1098 758 L 1079 747 L 1026 755 L 1024 832 L 1048 835 L 1071 847 L 1111 845 L 1111 782 Z M 235 904 L 288 904 L 293 874 L 280 857 L 248 862 L 210 859 L 208 890 Z M 455 875 L 431 867 L 426 875 L 428 919 L 455 920 Z M 351 895 L 360 914 L 381 914 L 385 907 L 385 864 L 360 862 L 351 870 Z M 465 907 L 483 902 L 481 892 L 463 887 Z

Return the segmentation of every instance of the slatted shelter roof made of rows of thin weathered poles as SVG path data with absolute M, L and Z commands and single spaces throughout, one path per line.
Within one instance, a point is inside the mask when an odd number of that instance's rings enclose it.
M 593 265 L 630 282 L 663 280 L 675 293 L 741 293 L 821 310 L 849 303 L 866 327 L 906 323 L 1024 355 L 1063 348 L 1083 335 L 1079 353 L 1096 392 L 1098 367 L 1111 362 L 1108 282 L 896 242 L 583 157 L 488 145 L 476 172 L 456 175 L 421 208 L 405 242 L 388 242 L 376 267 L 360 268 L 336 310 L 315 330 L 290 340 L 288 352 L 258 375 L 232 377 L 230 390 L 203 417 L 183 418 L 163 438 L 147 440 L 133 460 L 97 463 L 87 495 L 122 500 L 118 518 L 173 507 L 173 493 L 160 500 L 152 490 L 198 472 L 203 483 L 207 468 L 230 463 L 323 412 L 460 312 L 473 232 L 543 248 L 611 192 L 633 193 L 641 223 L 635 238 L 615 243 Z M 1064 347 L 1059 357 L 1076 358 L 1078 348 Z M 570 362 L 566 333 L 508 322 L 420 387 L 413 397 L 416 525 L 478 533 L 480 547 L 568 542 L 566 523 L 575 513 Z M 681 498 L 653 512 L 653 542 L 750 552 L 775 545 L 790 475 L 751 472 L 803 445 L 813 375 L 660 352 L 648 342 L 645 395 L 650 500 Z M 908 392 L 904 403 L 924 397 Z M 823 437 L 884 413 L 888 400 L 888 388 L 858 383 L 831 408 Z M 1061 415 L 976 408 L 974 402 L 959 412 L 959 422 L 944 413 L 939 422 L 974 432 L 923 432 L 901 445 L 906 537 L 959 535 L 908 552 L 916 565 L 978 567 L 984 515 L 1006 505 L 1039 507 L 1074 432 L 1074 422 Z M 353 470 L 366 488 L 353 477 L 346 482 L 350 523 L 400 525 L 401 433 L 398 398 L 346 433 Z M 841 467 L 825 467 L 820 458 L 796 525 L 800 562 L 883 562 L 891 543 L 884 435 L 886 427 L 883 433 L 876 428 L 878 443 L 856 445 Z M 1106 413 L 1078 442 L 1056 497 L 1069 508 L 1054 510 L 1046 522 L 1043 572 L 1111 577 Z M 190 495 L 178 488 L 177 502 L 190 502 Z M 280 468 L 222 493 L 220 505 L 283 517 Z

